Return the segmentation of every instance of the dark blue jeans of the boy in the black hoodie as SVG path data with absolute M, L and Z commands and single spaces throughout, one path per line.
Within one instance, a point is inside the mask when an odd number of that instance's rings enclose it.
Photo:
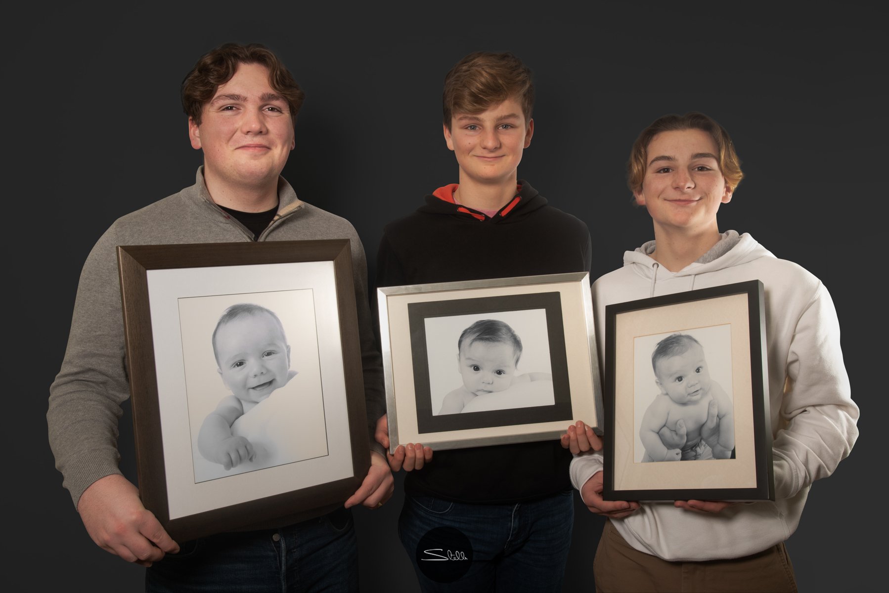
M 406 496 L 398 518 L 398 537 L 423 591 L 559 591 L 573 521 L 570 491 L 505 505 Z M 451 529 L 436 530 L 444 532 L 445 539 L 430 543 L 428 533 L 436 527 Z M 466 538 L 470 550 L 460 549 L 459 541 Z M 471 562 L 461 559 L 469 557 L 470 552 Z M 453 574 L 443 576 L 430 570 L 460 567 L 461 562 L 468 564 L 461 567 L 459 572 L 465 573 L 456 580 L 450 580 Z

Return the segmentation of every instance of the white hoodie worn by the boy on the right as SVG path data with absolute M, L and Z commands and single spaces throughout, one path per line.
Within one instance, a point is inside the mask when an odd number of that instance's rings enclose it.
M 678 272 L 649 257 L 653 250 L 650 241 L 625 252 L 623 268 L 593 284 L 597 329 L 605 327 L 605 306 L 613 303 L 745 280 L 765 285 L 776 501 L 734 505 L 716 515 L 677 509 L 672 502 L 644 503 L 629 517 L 612 519 L 613 525 L 633 548 L 665 560 L 755 554 L 796 531 L 813 481 L 828 477 L 858 437 L 837 312 L 818 278 L 777 259 L 749 234 L 727 231 L 701 260 Z M 604 353 L 604 332 L 597 331 L 597 340 Z M 574 487 L 601 470 L 600 453 L 575 457 Z

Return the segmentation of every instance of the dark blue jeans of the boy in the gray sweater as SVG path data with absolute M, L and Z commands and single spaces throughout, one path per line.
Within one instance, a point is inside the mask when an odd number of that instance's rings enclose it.
M 219 533 L 188 541 L 145 575 L 147 591 L 356 591 L 352 513 L 279 529 Z

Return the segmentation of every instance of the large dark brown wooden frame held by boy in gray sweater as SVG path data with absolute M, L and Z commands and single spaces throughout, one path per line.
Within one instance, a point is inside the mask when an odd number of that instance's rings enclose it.
M 120 271 L 121 298 L 124 310 L 126 337 L 126 360 L 132 394 L 132 421 L 138 463 L 140 497 L 145 507 L 152 511 L 164 525 L 164 529 L 177 541 L 188 541 L 211 533 L 236 530 L 248 525 L 271 522 L 292 522 L 320 515 L 345 501 L 358 486 L 370 466 L 367 424 L 364 406 L 364 379 L 358 324 L 356 315 L 355 290 L 352 279 L 352 261 L 348 239 L 317 241 L 275 241 L 268 243 L 230 244 L 169 244 L 169 245 L 126 245 L 117 248 Z M 280 276 L 269 264 L 302 264 L 303 262 L 332 262 L 332 285 L 324 290 L 335 291 L 335 317 L 339 329 L 332 340 L 339 336 L 341 346 L 341 383 L 331 397 L 345 397 L 339 401 L 337 410 L 348 417 L 348 445 L 337 443 L 341 468 L 350 475 L 329 482 L 313 484 L 289 492 L 268 494 L 260 488 L 249 493 L 244 500 L 226 504 L 219 508 L 171 518 L 169 496 L 173 488 L 188 488 L 189 485 L 168 483 L 165 467 L 164 436 L 162 430 L 162 403 L 158 394 L 158 376 L 163 368 L 156 368 L 157 349 L 174 348 L 175 344 L 156 343 L 153 335 L 152 304 L 149 302 L 149 273 L 153 270 L 188 270 L 189 275 L 212 275 L 212 268 L 226 268 L 228 275 L 237 277 L 239 271 L 254 268 L 253 276 L 272 277 L 280 282 Z M 236 267 L 236 268 L 231 268 Z M 292 269 L 292 268 L 288 268 Z M 269 272 L 268 270 L 272 270 Z M 216 274 L 219 274 L 218 270 Z M 326 277 L 326 276 L 325 276 Z M 261 292 L 261 286 L 244 285 L 243 292 Z M 211 293 L 212 294 L 212 293 Z M 332 300 L 332 299 L 331 299 Z M 322 325 L 318 333 L 332 333 L 332 328 Z M 337 370 L 336 373 L 339 373 Z M 339 381 L 339 375 L 337 375 Z M 327 385 L 324 396 L 327 397 Z M 326 404 L 325 404 L 326 405 Z M 325 413 L 326 408 L 325 408 Z M 336 419 L 325 418 L 326 426 L 331 427 Z M 328 443 L 336 435 L 343 435 L 340 428 L 327 429 Z M 348 455 L 350 453 L 350 463 Z M 338 453 L 339 454 L 339 453 Z M 331 457 L 332 459 L 332 457 Z M 346 460 L 346 461 L 342 461 Z M 311 460 L 315 463 L 325 462 Z M 273 468 L 277 472 L 297 479 L 299 472 L 306 472 L 303 463 L 286 464 Z M 317 466 L 315 466 L 317 467 Z M 225 488 L 227 480 L 237 478 L 238 484 L 261 475 L 260 469 L 252 474 L 222 477 L 212 480 Z M 296 472 L 296 473 L 290 473 Z M 280 473 L 278 475 L 281 475 Z M 246 477 L 245 476 L 249 476 Z M 310 478 L 317 479 L 317 478 Z M 249 483 L 248 483 L 249 484 Z M 208 486 L 209 487 L 209 486 Z M 215 487 L 215 485 L 214 485 Z M 252 486 L 247 486 L 248 490 Z M 184 491 L 183 491 L 184 492 Z M 254 495 L 255 494 L 255 495 Z M 180 513 L 177 513 L 180 515 Z

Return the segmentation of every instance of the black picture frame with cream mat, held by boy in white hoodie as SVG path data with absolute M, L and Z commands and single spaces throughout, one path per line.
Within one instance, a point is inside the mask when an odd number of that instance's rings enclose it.
M 764 292 L 750 280 L 605 307 L 605 500 L 774 500 Z M 727 377 L 736 445 L 727 459 L 684 451 L 682 461 L 653 461 L 640 450 L 642 417 L 658 393 L 653 346 L 675 333 L 701 338 L 708 369 L 721 365 Z

